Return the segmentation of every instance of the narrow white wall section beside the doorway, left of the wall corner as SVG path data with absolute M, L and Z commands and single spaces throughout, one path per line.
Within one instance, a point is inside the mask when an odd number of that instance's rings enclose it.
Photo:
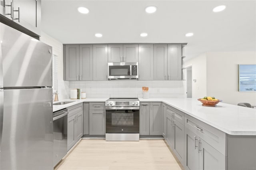
M 184 61 L 184 67 L 192 66 L 192 97 L 202 98 L 206 96 L 206 53 Z M 196 79 L 196 82 L 193 80 Z

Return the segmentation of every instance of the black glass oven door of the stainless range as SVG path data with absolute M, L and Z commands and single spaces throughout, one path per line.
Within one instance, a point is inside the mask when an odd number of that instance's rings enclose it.
M 139 133 L 139 110 L 106 110 L 106 133 Z

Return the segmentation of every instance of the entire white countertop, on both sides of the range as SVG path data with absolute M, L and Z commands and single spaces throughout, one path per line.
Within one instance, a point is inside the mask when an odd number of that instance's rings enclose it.
M 74 101 L 66 105 L 53 105 L 58 111 L 82 102 L 105 102 L 108 98 L 88 98 L 62 101 Z M 200 101 L 191 98 L 139 98 L 140 102 L 164 102 L 212 127 L 231 135 L 256 135 L 256 109 L 218 103 L 216 107 L 202 106 Z M 54 102 L 55 103 L 55 102 Z

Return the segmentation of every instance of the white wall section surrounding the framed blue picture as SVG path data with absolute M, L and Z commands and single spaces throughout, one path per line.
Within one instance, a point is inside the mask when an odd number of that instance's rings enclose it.
M 256 52 L 208 52 L 207 95 L 234 105 L 256 105 L 256 91 L 238 91 L 238 64 L 256 64 Z

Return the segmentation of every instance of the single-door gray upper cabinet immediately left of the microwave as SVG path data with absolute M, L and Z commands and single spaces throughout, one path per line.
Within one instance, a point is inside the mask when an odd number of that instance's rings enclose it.
M 93 45 L 93 80 L 108 78 L 108 45 Z

